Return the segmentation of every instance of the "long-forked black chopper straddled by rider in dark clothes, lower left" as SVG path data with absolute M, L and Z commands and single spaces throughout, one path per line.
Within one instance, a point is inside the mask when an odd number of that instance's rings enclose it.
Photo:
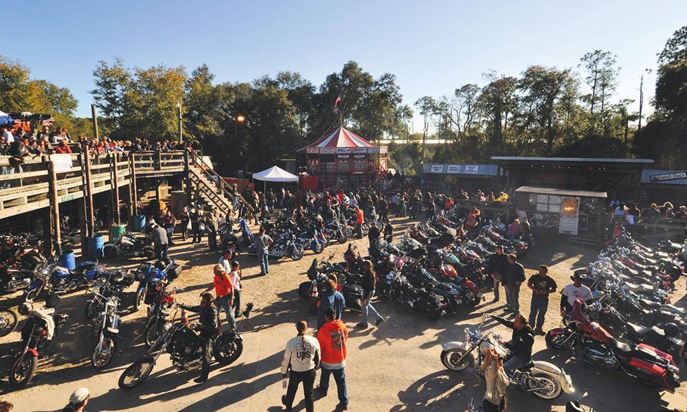
M 212 357 L 221 365 L 234 363 L 243 353 L 243 337 L 240 334 L 240 329 L 248 319 L 251 310 L 253 310 L 253 304 L 249 303 L 243 312 L 244 319 L 238 328 L 223 332 L 212 342 Z M 192 330 L 193 327 L 188 323 L 188 318 L 185 317 L 183 310 L 181 318 L 157 338 L 145 356 L 138 358 L 124 369 L 119 379 L 120 388 L 133 388 L 148 378 L 153 367 L 155 367 L 155 363 L 157 363 L 157 359 L 165 351 L 170 354 L 172 365 L 178 371 L 201 369 L 201 356 L 203 354 L 201 340 Z

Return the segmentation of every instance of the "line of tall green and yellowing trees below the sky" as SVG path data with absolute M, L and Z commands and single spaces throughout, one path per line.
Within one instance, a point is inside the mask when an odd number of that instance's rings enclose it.
M 578 67 L 532 65 L 518 76 L 488 71 L 482 86 L 414 103 L 423 133 L 409 133 L 414 111 L 392 73 L 378 78 L 350 61 L 324 82 L 284 71 L 252 82 L 215 82 L 206 65 L 127 67 L 101 61 L 91 91 L 113 139 L 183 139 L 212 153 L 221 173 L 258 170 L 322 137 L 339 124 L 372 141 L 392 144 L 396 166 L 416 172 L 423 161 L 488 162 L 493 155 L 649 157 L 662 168 L 687 168 L 687 26 L 658 56 L 655 111 L 644 128 L 633 100 L 617 96 L 620 67 L 611 52 L 594 50 Z M 337 98 L 341 98 L 335 109 Z M 74 115 L 69 89 L 30 77 L 21 62 L 0 56 L 0 110 L 53 113 L 71 135 L 89 135 L 90 119 Z M 645 112 L 646 113 L 646 112 Z M 243 115 L 244 122 L 237 122 Z M 427 139 L 445 144 L 425 146 Z

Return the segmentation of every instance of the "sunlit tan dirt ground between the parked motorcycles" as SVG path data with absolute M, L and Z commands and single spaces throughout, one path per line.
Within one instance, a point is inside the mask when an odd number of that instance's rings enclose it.
M 396 233 L 401 235 L 409 220 L 395 220 Z M 367 240 L 359 240 L 365 250 Z M 333 244 L 325 253 L 343 259 L 346 245 Z M 523 260 L 528 276 L 539 264 L 548 264 L 550 273 L 559 288 L 569 281 L 571 268 L 578 268 L 596 258 L 598 251 L 586 247 L 561 244 L 554 239 L 538 238 L 534 250 Z M 179 242 L 170 254 L 182 262 L 184 271 L 174 282 L 179 289 L 179 300 L 188 304 L 199 301 L 199 293 L 212 282 L 212 265 L 218 253 L 207 251 L 205 244 Z M 41 361 L 34 380 L 22 390 L 13 391 L 7 374 L 11 366 L 11 352 L 19 340 L 14 332 L 0 339 L 0 399 L 15 405 L 15 411 L 58 411 L 67 403 L 71 391 L 87 387 L 91 391 L 88 411 L 280 411 L 282 389 L 279 366 L 286 341 L 295 336 L 293 323 L 306 319 L 314 327 L 317 319 L 307 313 L 308 302 L 297 295 L 297 286 L 307 278 L 305 271 L 313 260 L 306 253 L 299 262 L 290 259 L 271 261 L 269 276 L 258 276 L 254 257 L 242 255 L 243 301 L 255 303 L 254 314 L 243 324 L 245 350 L 243 355 L 227 367 L 214 365 L 210 380 L 203 385 L 192 382 L 197 372 L 178 372 L 172 369 L 169 357 L 161 356 L 153 374 L 142 385 L 123 391 L 117 379 L 123 369 L 146 351 L 142 339 L 144 310 L 133 313 L 133 291 L 128 289 L 122 302 L 124 318 L 120 326 L 124 339 L 120 341 L 111 367 L 95 371 L 89 365 L 95 336 L 83 321 L 84 297 L 82 292 L 67 295 L 60 302 L 60 311 L 71 317 L 54 339 L 58 355 Z M 113 267 L 134 267 L 139 262 L 112 262 Z M 685 282 L 678 282 L 673 297 L 677 306 L 687 306 L 684 296 Z M 440 362 L 441 345 L 463 339 L 463 329 L 480 323 L 482 314 L 502 314 L 502 301 L 492 302 L 491 292 L 484 304 L 473 312 L 449 314 L 439 321 L 431 321 L 423 314 L 412 313 L 394 304 L 377 300 L 374 306 L 387 318 L 379 328 L 357 330 L 357 312 L 346 312 L 350 335 L 346 377 L 348 380 L 349 409 L 352 411 L 466 411 L 471 400 L 480 402 L 484 395 L 484 382 L 471 371 L 462 373 L 444 369 Z M 545 329 L 559 325 L 557 297 L 552 301 Z M 530 293 L 523 288 L 521 309 L 528 314 Z M 3 306 L 19 304 L 19 294 L 3 297 Z M 243 321 L 241 321 L 243 323 Z M 21 327 L 20 323 L 20 327 Z M 493 323 L 487 326 L 504 337 L 509 333 Z M 620 373 L 611 373 L 585 366 L 581 361 L 568 358 L 566 353 L 546 350 L 543 337 L 537 337 L 534 358 L 551 361 L 565 368 L 572 376 L 576 392 L 563 394 L 552 402 L 539 400 L 515 389 L 510 391 L 509 411 L 564 411 L 565 402 L 578 399 L 598 412 L 652 412 L 659 407 L 682 408 L 687 406 L 686 385 L 674 393 L 662 393 L 642 385 Z M 687 378 L 687 367 L 682 368 Z M 319 379 L 319 375 L 318 375 Z M 299 403 L 300 402 L 300 403 Z M 319 411 L 334 411 L 337 404 L 335 383 L 330 382 L 327 398 L 315 402 Z M 294 411 L 304 410 L 302 393 L 298 393 Z

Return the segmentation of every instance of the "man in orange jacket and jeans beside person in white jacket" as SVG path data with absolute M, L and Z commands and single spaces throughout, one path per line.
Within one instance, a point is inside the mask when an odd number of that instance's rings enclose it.
M 346 389 L 346 341 L 348 330 L 341 319 L 336 319 L 334 308 L 326 308 L 324 317 L 327 320 L 317 332 L 317 341 L 322 351 L 322 374 L 319 376 L 317 391 L 327 395 L 329 389 L 329 376 L 334 375 L 339 393 L 339 409 L 348 410 L 348 390 Z

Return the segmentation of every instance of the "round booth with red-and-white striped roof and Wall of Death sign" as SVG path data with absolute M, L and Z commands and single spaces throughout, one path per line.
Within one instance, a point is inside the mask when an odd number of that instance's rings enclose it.
M 296 162 L 297 170 L 318 176 L 321 188 L 365 186 L 387 169 L 387 147 L 375 146 L 339 127 L 296 150 Z

